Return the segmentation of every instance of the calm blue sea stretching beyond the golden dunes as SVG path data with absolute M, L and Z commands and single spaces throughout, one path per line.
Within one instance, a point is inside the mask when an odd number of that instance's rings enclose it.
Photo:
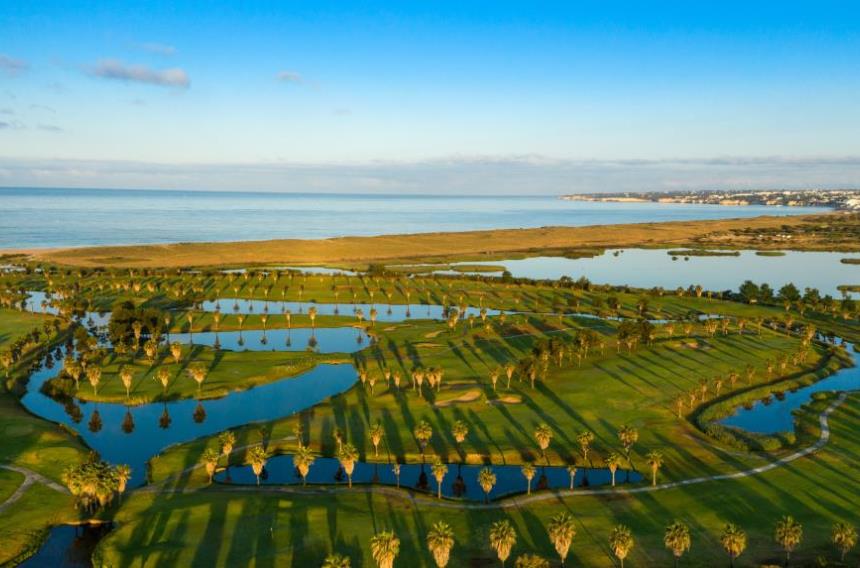
M 555 197 L 422 197 L 0 188 L 0 249 L 324 238 L 595 225 L 820 209 L 588 203 Z

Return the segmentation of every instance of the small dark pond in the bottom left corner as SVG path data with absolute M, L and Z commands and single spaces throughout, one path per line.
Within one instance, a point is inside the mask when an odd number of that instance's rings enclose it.
M 38 552 L 19 568 L 90 568 L 93 551 L 111 530 L 110 523 L 59 525 L 51 528 Z

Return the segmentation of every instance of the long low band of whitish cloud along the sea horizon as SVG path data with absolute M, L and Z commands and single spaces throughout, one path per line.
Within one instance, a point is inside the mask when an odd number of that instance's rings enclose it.
M 0 158 L 0 183 L 33 186 L 559 195 L 673 189 L 860 188 L 860 156 L 564 160 L 454 156 L 415 162 L 167 164 Z

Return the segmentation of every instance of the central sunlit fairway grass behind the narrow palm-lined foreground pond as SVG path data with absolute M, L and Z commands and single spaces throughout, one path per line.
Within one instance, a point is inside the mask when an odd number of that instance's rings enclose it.
M 593 321 L 567 319 L 549 325 L 526 317 L 504 326 L 494 325 L 490 331 L 481 328 L 465 334 L 444 332 L 430 339 L 426 336 L 432 327 L 400 329 L 380 342 L 378 349 L 358 355 L 358 364 L 366 367 L 369 375 L 380 377 L 373 394 L 369 388 L 359 386 L 307 413 L 275 422 L 270 432 L 271 449 L 293 451 L 292 435 L 301 423 L 306 441 L 315 451 L 333 455 L 336 450 L 333 433 L 340 429 L 358 447 L 363 459 L 373 461 L 367 432 L 373 423 L 380 421 L 386 433 L 379 461 L 419 462 L 421 453 L 412 431 L 418 422 L 425 420 L 434 432 L 426 450 L 431 456 L 428 461 L 438 455 L 449 462 L 519 464 L 541 459 L 533 431 L 538 424 L 546 423 L 555 433 L 547 453 L 550 462 L 563 465 L 577 460 L 580 465 L 599 467 L 610 450 L 620 451 L 617 431 L 629 424 L 640 431 L 640 440 L 631 454 L 634 465 L 640 470 L 645 468 L 645 454 L 660 449 L 666 455 L 667 479 L 720 473 L 761 463 L 761 458 L 735 455 L 717 447 L 688 421 L 677 418 L 674 401 L 679 394 L 686 396 L 697 388 L 699 378 L 725 376 L 731 370 L 741 373 L 747 363 L 758 369 L 759 381 L 763 380 L 765 360 L 775 353 L 795 350 L 799 345 L 797 339 L 765 331 L 761 336 L 732 333 L 714 338 L 664 338 L 652 347 L 632 353 L 615 353 L 609 348 L 601 355 L 595 350 L 582 367 L 572 362 L 563 368 L 552 367 L 547 379 L 539 380 L 535 389 L 515 378 L 508 390 L 503 376 L 498 392 L 493 392 L 488 378 L 490 371 L 528 354 L 541 337 L 569 339 L 571 328 L 586 325 L 603 326 L 597 329 L 614 333 L 612 328 Z M 815 366 L 820 356 L 821 353 L 814 352 L 807 364 Z M 400 389 L 386 386 L 383 366 L 403 376 Z M 409 379 L 415 366 L 444 369 L 439 393 L 431 392 L 425 384 L 423 397 L 419 398 Z M 726 383 L 726 391 L 728 388 Z M 482 396 L 471 402 L 436 404 L 476 389 Z M 511 395 L 521 398 L 522 403 L 487 403 Z M 455 443 L 451 434 L 451 425 L 457 420 L 470 427 L 469 437 L 462 446 Z M 590 463 L 582 463 L 578 457 L 575 439 L 586 429 L 596 434 Z M 259 443 L 256 426 L 239 429 L 237 434 L 239 446 Z M 215 445 L 215 440 L 209 439 L 172 448 L 153 462 L 153 479 L 172 477 L 197 463 L 205 447 Z M 240 462 L 242 454 L 238 453 L 234 459 Z M 172 481 L 176 486 L 186 486 L 205 479 L 202 471 L 197 471 Z

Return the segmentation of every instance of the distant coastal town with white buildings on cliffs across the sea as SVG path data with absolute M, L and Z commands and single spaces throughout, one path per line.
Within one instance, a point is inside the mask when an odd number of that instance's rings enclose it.
M 860 189 L 644 191 L 562 195 L 568 201 L 829 207 L 860 211 Z

